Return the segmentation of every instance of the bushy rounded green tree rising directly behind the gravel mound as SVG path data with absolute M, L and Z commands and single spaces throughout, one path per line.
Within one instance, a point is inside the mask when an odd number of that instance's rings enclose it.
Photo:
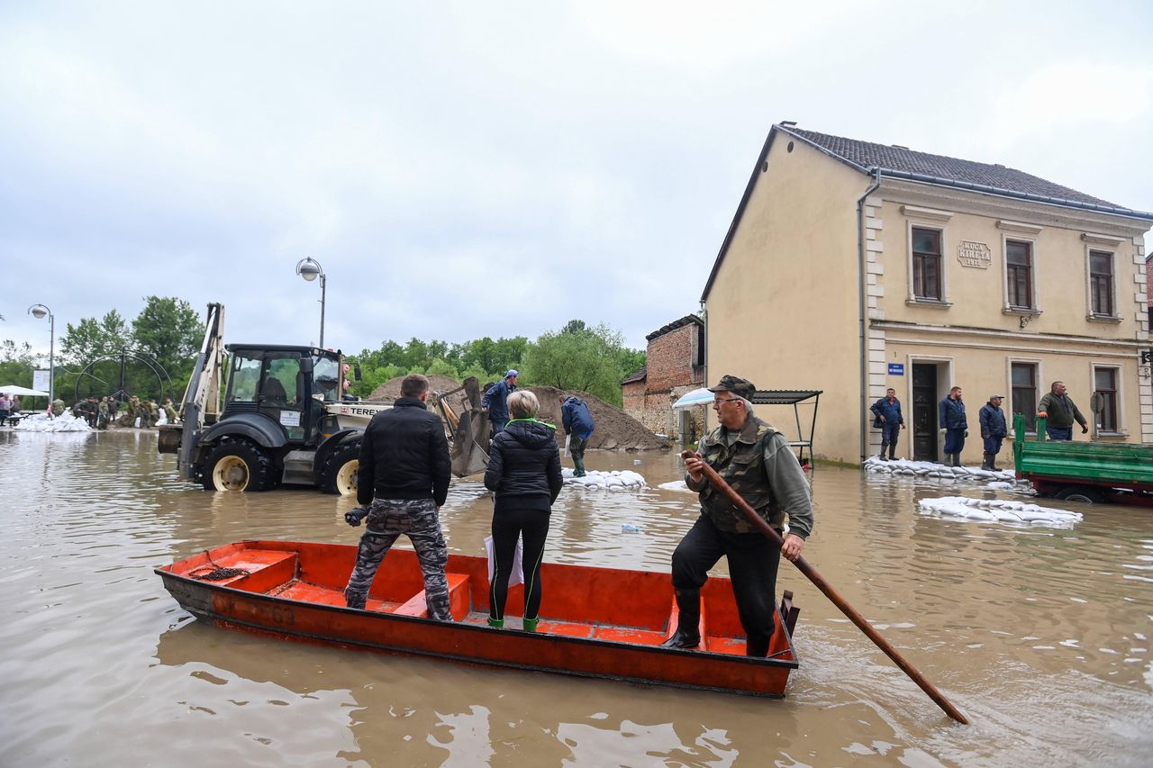
M 620 406 L 621 369 L 635 354 L 625 348 L 620 331 L 574 321 L 529 344 L 520 370 L 526 384 L 581 390 Z

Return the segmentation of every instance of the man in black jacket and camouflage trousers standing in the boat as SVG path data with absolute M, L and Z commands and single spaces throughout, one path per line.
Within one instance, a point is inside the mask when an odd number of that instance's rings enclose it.
M 400 534 L 413 542 L 424 574 L 429 617 L 451 622 L 449 581 L 444 575 L 449 548 L 440 533 L 439 510 L 449 495 L 449 441 L 440 419 L 424 407 L 429 381 L 412 374 L 400 383 L 392 408 L 372 416 L 361 441 L 356 500 L 361 509 L 345 515 L 359 526 L 356 566 L 345 589 L 349 608 L 364 608 L 377 569 Z

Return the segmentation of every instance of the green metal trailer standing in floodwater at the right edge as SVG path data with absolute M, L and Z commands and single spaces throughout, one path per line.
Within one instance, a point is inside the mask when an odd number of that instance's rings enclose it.
M 1037 436 L 1025 436 L 1025 417 L 1013 417 L 1017 476 L 1041 496 L 1100 504 L 1153 506 L 1153 444 L 1046 439 L 1045 419 Z

